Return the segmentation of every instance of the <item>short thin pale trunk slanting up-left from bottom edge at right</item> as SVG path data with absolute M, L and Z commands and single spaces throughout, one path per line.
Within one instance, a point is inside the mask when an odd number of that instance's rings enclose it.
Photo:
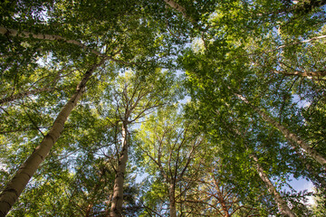
M 283 213 L 285 216 L 295 217 L 296 215 L 291 211 L 287 203 L 283 200 L 280 193 L 277 192 L 276 188 L 273 186 L 273 183 L 268 178 L 268 175 L 264 173 L 264 168 L 259 165 L 258 159 L 254 155 L 250 155 L 252 159 L 254 159 L 254 164 L 256 166 L 256 170 L 258 172 L 258 175 L 263 180 L 263 182 L 266 184 L 266 187 L 268 189 L 268 192 L 273 193 L 274 199 L 277 203 L 277 206 L 279 210 Z

